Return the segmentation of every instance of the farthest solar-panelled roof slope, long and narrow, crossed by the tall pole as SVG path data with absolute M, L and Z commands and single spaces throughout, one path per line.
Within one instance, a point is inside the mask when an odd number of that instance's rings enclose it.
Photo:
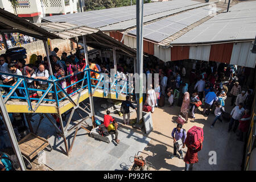
M 183 9 L 189 6 L 200 6 L 201 2 L 191 0 L 172 0 L 167 2 L 154 2 L 144 4 L 144 16 L 151 16 L 155 18 L 158 14 L 170 13 L 170 10 Z M 76 14 L 55 15 L 44 17 L 43 20 L 47 22 L 69 22 L 77 25 L 84 25 L 93 28 L 100 28 L 106 30 L 110 25 L 115 25 L 123 22 L 130 22 L 135 20 L 136 6 L 115 7 L 111 9 L 85 11 Z M 125 13 L 124 13 L 125 12 Z M 154 15 L 154 16 L 152 16 Z M 165 16 L 165 15 L 160 15 Z M 158 17 L 159 18 L 159 17 Z M 136 26 L 136 23 L 132 23 Z M 104 28 L 104 29 L 101 29 Z M 113 29 L 112 29 L 113 30 Z

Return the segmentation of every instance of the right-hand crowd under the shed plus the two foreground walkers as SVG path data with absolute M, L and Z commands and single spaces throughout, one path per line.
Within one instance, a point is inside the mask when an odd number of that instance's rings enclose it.
M 195 112 L 203 114 L 205 117 L 208 117 L 210 113 L 214 114 L 215 117 L 210 125 L 211 129 L 217 121 L 222 122 L 222 118 L 225 118 L 229 121 L 227 131 L 233 130 L 236 133 L 238 129 L 237 140 L 245 140 L 253 104 L 253 90 L 246 85 L 250 69 L 212 61 L 209 63 L 193 62 L 191 72 L 187 72 L 185 64 L 182 63 L 161 65 L 147 62 L 147 64 L 145 73 L 159 73 L 160 85 L 156 85 L 153 91 L 152 88 L 148 88 L 145 105 L 152 107 L 151 112 L 154 111 L 155 106 L 163 106 L 164 100 L 167 99 L 170 107 L 174 104 L 180 106 L 177 119 L 179 124 L 172 130 L 174 155 L 171 158 L 176 156 L 175 143 L 177 140 L 181 141 L 180 145 L 184 148 L 186 133 L 181 128 L 184 123 L 188 122 L 189 117 L 196 119 Z M 226 103 L 228 96 L 231 97 L 230 103 Z M 230 113 L 225 110 L 227 104 L 233 107 Z M 203 111 L 199 110 L 200 106 Z M 184 158 L 185 170 L 192 170 L 191 164 L 198 162 L 197 152 L 201 150 L 201 147 L 202 144 L 196 152 L 187 152 L 189 157 L 186 155 Z M 180 153 L 179 157 L 183 158 L 181 149 L 178 152 Z

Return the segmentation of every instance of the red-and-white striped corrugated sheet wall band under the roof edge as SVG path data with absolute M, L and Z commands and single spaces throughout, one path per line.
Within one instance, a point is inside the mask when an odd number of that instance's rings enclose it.
M 122 39 L 122 33 L 113 31 L 110 36 L 117 40 Z M 136 49 L 136 38 L 125 35 L 123 43 Z M 203 61 L 216 61 L 220 63 L 237 64 L 244 67 L 255 68 L 256 54 L 250 51 L 251 42 L 223 43 L 206 46 L 173 46 L 162 48 L 158 44 L 143 40 L 143 51 L 154 55 L 162 61 L 176 61 L 184 59 L 195 59 Z

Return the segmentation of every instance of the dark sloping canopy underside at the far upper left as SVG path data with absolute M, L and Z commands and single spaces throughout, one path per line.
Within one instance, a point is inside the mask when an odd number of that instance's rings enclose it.
M 32 36 L 36 39 L 47 40 L 61 39 L 59 36 L 51 34 L 50 32 L 28 22 L 26 19 L 5 11 L 0 8 L 0 33 L 15 33 Z

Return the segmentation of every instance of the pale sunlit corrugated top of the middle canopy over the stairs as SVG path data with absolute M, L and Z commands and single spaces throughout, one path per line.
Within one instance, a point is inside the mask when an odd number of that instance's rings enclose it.
M 37 26 L 60 36 L 64 39 L 71 39 L 82 35 L 93 34 L 99 30 L 96 28 L 89 28 L 86 26 L 76 26 L 71 23 L 35 23 Z

